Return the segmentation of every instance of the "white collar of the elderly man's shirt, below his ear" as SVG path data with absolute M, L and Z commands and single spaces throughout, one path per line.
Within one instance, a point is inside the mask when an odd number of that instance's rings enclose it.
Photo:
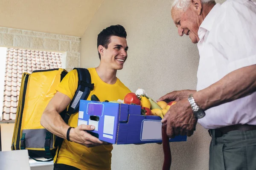
M 215 6 L 213 6 L 213 8 L 209 12 L 209 14 L 207 14 L 207 16 L 204 18 L 204 21 L 199 26 L 199 30 L 198 31 L 200 31 L 200 28 L 204 28 L 204 29 L 206 29 L 208 31 L 211 31 L 212 25 L 214 23 L 214 20 L 215 20 L 217 14 L 218 14 L 219 8 L 221 8 L 221 4 L 220 3 L 217 3 Z

